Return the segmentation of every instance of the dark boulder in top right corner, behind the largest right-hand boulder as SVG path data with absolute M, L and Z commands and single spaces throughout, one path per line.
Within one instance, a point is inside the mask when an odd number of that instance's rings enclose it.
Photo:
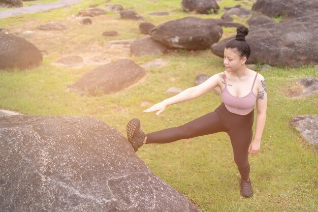
M 317 0 L 258 0 L 252 6 L 253 11 L 271 17 L 298 17 L 318 10 Z

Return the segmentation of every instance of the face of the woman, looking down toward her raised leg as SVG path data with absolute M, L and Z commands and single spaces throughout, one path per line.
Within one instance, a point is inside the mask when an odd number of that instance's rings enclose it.
M 241 57 L 236 49 L 224 49 L 223 64 L 227 72 L 235 72 L 246 62 L 246 57 Z

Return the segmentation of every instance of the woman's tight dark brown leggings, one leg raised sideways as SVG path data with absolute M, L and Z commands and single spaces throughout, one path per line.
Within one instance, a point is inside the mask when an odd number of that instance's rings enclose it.
M 210 112 L 184 125 L 147 134 L 146 143 L 170 143 L 217 132 L 227 132 L 230 136 L 234 161 L 242 179 L 248 179 L 248 146 L 251 142 L 254 110 L 247 115 L 238 115 L 227 110 L 222 103 Z

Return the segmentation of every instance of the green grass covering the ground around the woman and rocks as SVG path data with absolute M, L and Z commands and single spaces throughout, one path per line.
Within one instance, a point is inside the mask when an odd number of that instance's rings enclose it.
M 189 16 L 182 12 L 181 1 L 157 0 L 157 4 L 143 0 L 113 0 L 109 4 L 120 4 L 154 24 Z M 36 27 L 50 20 L 63 20 L 76 15 L 80 9 L 97 4 L 102 8 L 105 1 L 83 1 L 78 5 L 44 13 L 28 14 L 0 19 L 0 25 L 9 32 L 16 28 Z M 225 6 L 239 4 L 237 1 L 218 2 L 221 10 Z M 248 5 L 251 7 L 251 4 Z M 151 12 L 169 12 L 169 16 L 149 16 Z M 220 18 L 221 12 L 209 15 L 190 15 L 202 18 Z M 109 20 L 118 20 L 111 23 Z M 246 20 L 241 20 L 245 23 Z M 192 54 L 178 50 L 178 55 L 155 55 L 132 57 L 137 64 L 144 64 L 161 57 L 168 61 L 163 68 L 146 71 L 146 80 L 130 89 L 98 97 L 83 96 L 68 91 L 68 86 L 84 73 L 96 66 L 82 69 L 56 68 L 50 63 L 73 44 L 83 46 L 100 45 L 110 40 L 102 38 L 107 28 L 115 29 L 120 36 L 130 39 L 142 36 L 138 30 L 140 21 L 120 20 L 117 13 L 96 17 L 96 23 L 83 30 L 77 22 L 66 31 L 65 41 L 52 44 L 49 56 L 43 64 L 33 70 L 9 70 L 0 72 L 0 108 L 19 111 L 29 115 L 85 115 L 102 119 L 125 135 L 125 124 L 139 117 L 145 132 L 182 125 L 189 120 L 213 111 L 221 100 L 218 95 L 208 93 L 198 99 L 169 106 L 161 115 L 143 113 L 142 102 L 154 104 L 171 95 L 165 90 L 175 86 L 194 86 L 198 74 L 212 75 L 224 70 L 222 58 L 210 50 Z M 103 25 L 104 23 L 104 25 Z M 235 28 L 224 28 L 224 36 L 231 36 Z M 258 67 L 260 64 L 258 64 Z M 304 77 L 318 78 L 317 68 L 303 66 L 290 69 L 273 67 L 262 72 L 268 86 L 268 115 L 263 133 L 261 152 L 250 156 L 251 179 L 255 195 L 246 199 L 239 194 L 239 173 L 233 161 L 230 139 L 225 133 L 186 139 L 169 144 L 144 145 L 137 155 L 150 170 L 173 188 L 182 192 L 203 211 L 318 211 L 317 150 L 307 144 L 292 127 L 291 119 L 296 115 L 317 114 L 317 97 L 289 99 L 284 96 L 287 88 Z

